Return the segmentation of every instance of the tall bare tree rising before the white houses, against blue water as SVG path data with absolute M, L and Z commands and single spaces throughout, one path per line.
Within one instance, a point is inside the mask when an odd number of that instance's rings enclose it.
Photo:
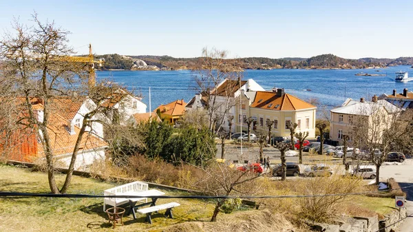
M 230 109 L 235 103 L 235 92 L 241 87 L 242 69 L 237 59 L 226 60 L 226 51 L 202 50 L 202 65 L 195 70 L 196 89 L 207 97 L 206 109 L 209 129 L 220 131 Z M 225 85 L 220 85 L 224 83 Z

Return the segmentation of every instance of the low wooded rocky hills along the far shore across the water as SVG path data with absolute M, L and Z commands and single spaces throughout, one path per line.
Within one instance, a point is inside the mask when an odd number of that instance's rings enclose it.
M 97 55 L 105 59 L 100 70 L 193 70 L 201 67 L 202 58 L 174 58 L 172 56 L 123 56 L 119 54 Z M 397 59 L 344 59 L 333 54 L 322 54 L 308 59 L 286 57 L 271 59 L 266 57 L 240 58 L 238 63 L 242 69 L 273 70 L 273 69 L 374 69 L 394 65 L 413 65 L 413 57 Z

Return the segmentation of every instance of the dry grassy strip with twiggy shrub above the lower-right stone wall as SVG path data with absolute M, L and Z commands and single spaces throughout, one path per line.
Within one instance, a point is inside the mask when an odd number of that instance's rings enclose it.
M 288 181 L 268 181 L 266 195 L 324 195 L 366 191 L 363 181 L 350 176 L 305 178 Z M 260 200 L 264 208 L 283 213 L 288 220 L 301 223 L 306 218 L 318 222 L 331 222 L 338 215 L 383 215 L 393 210 L 394 200 L 367 196 L 324 196 L 315 198 L 276 198 Z

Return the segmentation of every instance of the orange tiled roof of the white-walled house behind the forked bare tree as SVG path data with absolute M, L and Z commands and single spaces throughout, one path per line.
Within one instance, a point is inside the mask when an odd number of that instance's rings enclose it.
M 81 129 L 75 126 L 74 131 L 76 133 L 71 135 L 68 131 L 70 126 L 67 124 L 67 120 L 59 114 L 50 114 L 47 131 L 50 136 L 50 146 L 52 147 L 54 156 L 71 154 L 74 145 L 76 145 L 76 140 Z M 86 132 L 83 134 L 78 152 L 100 147 L 107 147 L 107 143 L 97 136 Z M 43 146 L 39 145 L 37 152 L 38 154 L 43 154 Z

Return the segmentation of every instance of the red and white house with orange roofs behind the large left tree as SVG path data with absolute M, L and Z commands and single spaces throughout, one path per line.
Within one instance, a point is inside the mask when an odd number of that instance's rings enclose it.
M 85 100 L 87 102 L 87 100 Z M 82 107 L 87 108 L 85 101 L 74 101 L 69 98 L 55 98 L 50 101 L 49 120 L 47 134 L 50 138 L 50 149 L 56 167 L 67 168 L 72 159 L 72 152 L 78 140 L 81 131 L 81 122 L 83 120 Z M 25 107 L 17 101 L 17 109 L 21 109 L 21 114 L 25 114 Z M 39 122 L 43 121 L 43 103 L 32 100 L 32 109 Z M 76 119 L 80 118 L 80 122 Z M 93 126 L 92 126 L 93 127 Z M 83 134 L 76 153 L 76 162 L 74 169 L 85 170 L 96 160 L 105 159 L 105 149 L 107 143 L 98 136 L 99 132 L 86 130 Z M 43 136 L 40 129 L 36 127 L 23 127 L 23 125 L 10 135 L 10 139 L 2 141 L 0 151 L 8 149 L 9 160 L 21 162 L 35 162 L 44 160 L 44 148 L 41 143 Z

